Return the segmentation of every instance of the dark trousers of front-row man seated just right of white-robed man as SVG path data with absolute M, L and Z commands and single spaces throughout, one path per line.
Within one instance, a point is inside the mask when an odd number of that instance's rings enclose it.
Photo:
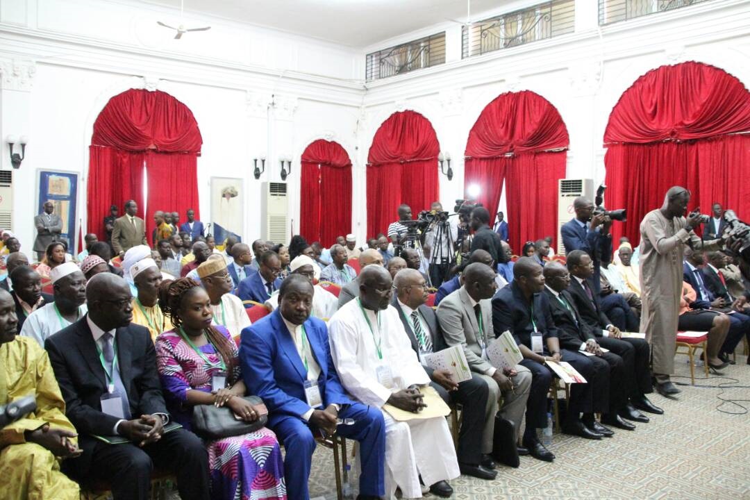
M 484 416 L 487 411 L 487 397 L 490 389 L 484 379 L 472 373 L 472 379 L 458 383 L 458 391 L 449 393 L 442 385 L 431 382 L 437 394 L 447 403 L 460 403 L 461 428 L 458 431 L 459 463 L 476 466 L 481 462 L 481 438 L 484 433 Z M 494 415 L 492 415 L 494 418 Z

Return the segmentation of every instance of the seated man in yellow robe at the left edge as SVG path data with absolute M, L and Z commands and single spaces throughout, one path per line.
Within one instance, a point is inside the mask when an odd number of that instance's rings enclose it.
M 78 484 L 60 471 L 63 460 L 81 454 L 76 430 L 65 418 L 65 401 L 46 352 L 17 337 L 13 299 L 0 290 L 2 404 L 34 396 L 36 409 L 0 430 L 0 475 L 5 499 L 79 500 Z

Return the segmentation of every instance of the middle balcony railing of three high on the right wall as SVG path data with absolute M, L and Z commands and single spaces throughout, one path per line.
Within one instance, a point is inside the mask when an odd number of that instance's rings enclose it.
M 574 0 L 545 1 L 523 10 L 464 25 L 461 53 L 463 58 L 467 58 L 572 33 L 574 29 Z

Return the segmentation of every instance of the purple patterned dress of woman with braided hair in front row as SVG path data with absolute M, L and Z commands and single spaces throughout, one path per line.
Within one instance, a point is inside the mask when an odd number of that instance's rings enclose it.
M 217 328 L 230 340 L 233 356 L 239 355 L 236 344 L 226 331 Z M 157 337 L 157 367 L 169 413 L 190 429 L 192 407 L 187 391 L 211 392 L 211 376 L 220 371 L 220 356 L 211 343 L 198 349 L 210 366 L 185 342 L 178 331 L 165 331 Z M 240 376 L 235 364 L 233 379 Z M 266 427 L 244 436 L 206 441 L 211 466 L 211 498 L 229 500 L 286 499 L 284 460 L 276 435 Z

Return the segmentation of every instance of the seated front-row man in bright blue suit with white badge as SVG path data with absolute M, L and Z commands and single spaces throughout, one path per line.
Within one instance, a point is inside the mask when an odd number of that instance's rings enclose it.
M 386 424 L 379 409 L 351 400 L 341 387 L 326 324 L 310 316 L 313 286 L 291 274 L 279 290 L 274 313 L 242 331 L 240 362 L 245 385 L 263 398 L 269 427 L 284 448 L 290 499 L 308 499 L 308 477 L 321 431 L 359 442 L 362 474 L 357 499 L 385 495 Z M 337 424 L 338 419 L 354 424 Z

